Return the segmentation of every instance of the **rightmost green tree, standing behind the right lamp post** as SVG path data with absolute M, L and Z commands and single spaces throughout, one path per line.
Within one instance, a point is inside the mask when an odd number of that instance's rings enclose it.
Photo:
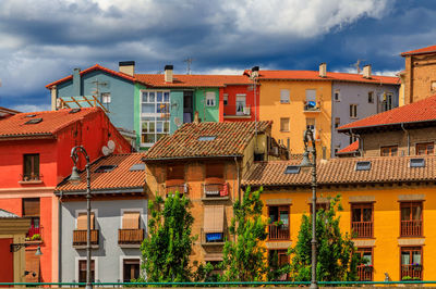
M 351 236 L 341 234 L 339 229 L 341 211 L 340 196 L 330 200 L 327 210 L 316 214 L 317 266 L 318 281 L 352 281 L 358 280 L 358 265 L 362 263 L 355 253 Z M 289 249 L 292 256 L 290 265 L 291 278 L 295 281 L 310 281 L 312 269 L 312 221 L 303 215 L 298 241 Z

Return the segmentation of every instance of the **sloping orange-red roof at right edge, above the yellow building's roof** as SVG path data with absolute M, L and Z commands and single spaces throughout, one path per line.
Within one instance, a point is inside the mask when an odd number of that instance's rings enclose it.
M 342 125 L 338 128 L 338 131 L 343 133 L 350 128 L 354 129 L 431 121 L 436 121 L 436 95 L 414 103 Z

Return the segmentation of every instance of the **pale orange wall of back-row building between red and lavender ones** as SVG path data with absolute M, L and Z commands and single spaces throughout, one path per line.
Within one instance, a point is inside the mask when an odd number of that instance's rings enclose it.
M 290 103 L 280 103 L 280 90 L 290 91 Z M 320 112 L 304 112 L 306 89 L 316 90 L 316 102 L 320 101 Z M 280 131 L 280 118 L 290 118 L 290 130 Z M 331 143 L 331 81 L 308 80 L 261 80 L 261 121 L 272 121 L 272 137 L 287 146 L 290 140 L 291 153 L 303 153 L 303 133 L 306 118 L 315 118 L 319 133 L 319 156 L 326 147 L 326 158 L 330 156 Z

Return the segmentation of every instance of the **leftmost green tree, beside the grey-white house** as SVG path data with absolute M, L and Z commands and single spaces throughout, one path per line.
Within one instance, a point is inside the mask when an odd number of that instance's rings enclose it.
M 178 192 L 165 201 L 161 197 L 149 201 L 148 238 L 141 246 L 147 281 L 191 280 L 190 255 L 196 237 L 191 236 L 194 218 L 190 205 Z

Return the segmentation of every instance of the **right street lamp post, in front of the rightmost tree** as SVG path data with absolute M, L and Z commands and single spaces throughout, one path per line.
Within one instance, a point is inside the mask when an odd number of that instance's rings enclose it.
M 308 148 L 308 143 L 311 142 L 312 148 Z M 312 161 L 310 160 L 310 154 L 312 154 Z M 312 129 L 307 129 L 304 131 L 304 153 L 303 161 L 300 166 L 302 168 L 312 168 L 312 280 L 311 288 L 318 288 L 318 284 L 316 282 L 316 147 L 315 147 L 315 137 L 313 135 Z

